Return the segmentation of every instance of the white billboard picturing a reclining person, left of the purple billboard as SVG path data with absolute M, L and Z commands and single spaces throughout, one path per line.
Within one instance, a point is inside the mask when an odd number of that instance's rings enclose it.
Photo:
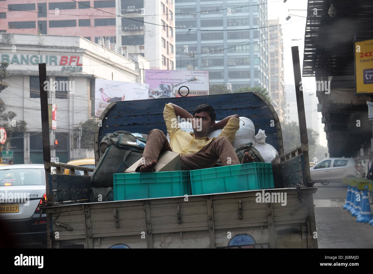
M 101 116 L 111 102 L 148 99 L 148 90 L 147 84 L 96 78 L 95 114 Z

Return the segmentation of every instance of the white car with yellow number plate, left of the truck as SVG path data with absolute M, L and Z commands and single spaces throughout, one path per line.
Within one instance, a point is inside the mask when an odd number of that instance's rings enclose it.
M 0 166 L 0 219 L 15 244 L 46 244 L 46 214 L 37 224 L 38 204 L 43 196 L 46 197 L 43 164 Z

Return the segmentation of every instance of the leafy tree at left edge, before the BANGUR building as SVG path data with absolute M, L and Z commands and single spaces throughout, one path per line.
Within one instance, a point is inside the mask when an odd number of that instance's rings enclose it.
M 8 87 L 8 85 L 4 82 L 4 80 L 9 76 L 6 71 L 8 65 L 8 63 L 0 64 L 0 92 Z M 0 98 L 0 125 L 6 130 L 7 142 L 12 140 L 12 135 L 14 132 L 23 134 L 27 132 L 27 123 L 23 120 L 15 120 L 14 118 L 16 116 L 17 114 L 14 111 L 6 111 L 6 105 Z M 10 123 L 7 123 L 8 121 Z

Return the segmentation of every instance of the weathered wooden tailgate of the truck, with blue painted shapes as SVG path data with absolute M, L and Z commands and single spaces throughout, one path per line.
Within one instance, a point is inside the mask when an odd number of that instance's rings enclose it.
M 54 248 L 317 248 L 317 188 L 281 188 L 46 208 Z M 286 193 L 286 205 L 257 202 Z M 300 200 L 300 199 L 301 200 Z

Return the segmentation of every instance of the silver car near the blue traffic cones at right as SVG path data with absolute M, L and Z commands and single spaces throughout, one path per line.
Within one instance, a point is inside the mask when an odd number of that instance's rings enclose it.
M 327 185 L 341 182 L 344 177 L 361 177 L 360 166 L 355 158 L 327 158 L 310 168 L 311 179 L 315 183 Z

